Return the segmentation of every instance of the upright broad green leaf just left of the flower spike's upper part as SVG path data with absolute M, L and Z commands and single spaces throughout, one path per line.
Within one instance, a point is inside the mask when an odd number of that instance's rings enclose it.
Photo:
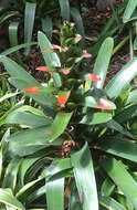
M 59 59 L 56 53 L 53 53 L 53 52 L 46 53 L 46 52 L 44 52 L 44 50 L 52 50 L 51 49 L 51 43 L 50 43 L 49 39 L 46 38 L 46 35 L 39 31 L 38 40 L 39 40 L 41 53 L 43 55 L 43 59 L 44 59 L 46 65 L 48 66 L 61 67 L 60 59 Z

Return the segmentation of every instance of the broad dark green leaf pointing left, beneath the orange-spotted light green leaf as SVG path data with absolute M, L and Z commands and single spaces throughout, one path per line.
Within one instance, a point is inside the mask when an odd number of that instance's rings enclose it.
M 14 133 L 8 138 L 9 150 L 14 155 L 25 156 L 50 145 L 62 145 L 63 137 L 57 138 L 54 143 L 49 143 L 48 133 L 48 126 Z

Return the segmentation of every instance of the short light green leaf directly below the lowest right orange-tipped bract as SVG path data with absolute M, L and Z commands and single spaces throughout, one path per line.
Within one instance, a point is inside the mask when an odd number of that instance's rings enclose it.
M 81 119 L 80 124 L 96 125 L 106 123 L 109 119 L 112 119 L 110 113 L 88 113 Z

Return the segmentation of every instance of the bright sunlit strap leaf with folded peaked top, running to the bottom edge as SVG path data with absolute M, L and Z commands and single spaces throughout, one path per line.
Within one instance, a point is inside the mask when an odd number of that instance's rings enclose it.
M 87 143 L 83 148 L 71 156 L 74 167 L 74 177 L 78 189 L 83 210 L 98 209 L 96 182 L 93 169 L 93 160 Z

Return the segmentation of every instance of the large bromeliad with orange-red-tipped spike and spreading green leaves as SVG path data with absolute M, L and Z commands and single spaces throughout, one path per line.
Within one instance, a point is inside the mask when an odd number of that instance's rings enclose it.
M 10 83 L 36 102 L 20 105 L 3 120 L 22 130 L 8 130 L 1 140 L 1 207 L 97 210 L 99 203 L 99 209 L 137 209 L 137 92 L 129 84 L 137 59 L 104 87 L 113 39 L 101 46 L 92 71 L 92 55 L 80 48 L 83 38 L 74 24 L 65 22 L 54 32 L 60 45 L 38 33 L 45 65 L 36 71 L 43 72 L 44 84 L 0 56 Z

